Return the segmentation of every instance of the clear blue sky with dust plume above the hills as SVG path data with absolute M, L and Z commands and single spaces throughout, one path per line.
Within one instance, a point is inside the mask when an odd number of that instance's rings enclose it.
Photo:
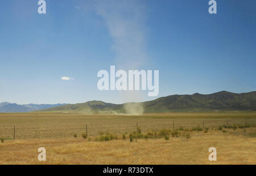
M 0 102 L 121 104 L 256 91 L 256 1 L 0 2 Z M 159 94 L 99 91 L 97 72 L 159 70 Z M 62 79 L 61 79 L 62 78 Z

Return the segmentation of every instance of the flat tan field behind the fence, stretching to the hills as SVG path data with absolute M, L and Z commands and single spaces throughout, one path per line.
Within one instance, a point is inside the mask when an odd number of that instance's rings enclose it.
M 121 135 L 137 129 L 137 122 L 142 131 L 159 131 L 162 128 L 202 126 L 217 127 L 225 125 L 256 122 L 255 113 L 163 113 L 132 115 L 113 114 L 53 114 L 20 113 L 0 114 L 0 138 L 13 139 L 14 125 L 16 139 L 69 138 L 73 134 L 81 135 L 88 125 L 88 135 L 100 132 L 113 132 Z

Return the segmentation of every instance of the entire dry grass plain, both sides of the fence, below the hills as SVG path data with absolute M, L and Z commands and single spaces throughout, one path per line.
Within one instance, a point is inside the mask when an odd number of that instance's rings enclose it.
M 0 142 L 0 164 L 256 164 L 255 120 L 255 113 L 0 114 L 0 138 L 6 139 Z M 246 121 L 253 126 L 217 129 L 227 121 L 228 125 Z M 175 130 L 184 130 L 178 137 L 143 137 L 131 142 L 129 133 L 137 130 L 137 122 L 145 136 L 148 131 L 173 130 L 173 122 Z M 208 132 L 185 131 L 203 127 L 203 122 Z M 85 123 L 86 139 L 81 136 Z M 112 132 L 117 139 L 99 141 L 102 132 Z M 47 161 L 38 161 L 39 147 L 46 148 Z M 208 160 L 210 147 L 217 149 L 217 161 Z

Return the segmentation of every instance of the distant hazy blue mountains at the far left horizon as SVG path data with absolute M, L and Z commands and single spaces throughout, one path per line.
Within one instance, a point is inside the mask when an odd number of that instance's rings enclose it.
M 47 108 L 53 108 L 56 106 L 63 106 L 67 104 L 55 104 L 55 105 L 49 105 L 49 104 L 27 104 L 27 105 L 18 105 L 18 104 L 11 104 L 10 102 L 2 102 L 0 103 L 0 113 L 24 113 L 24 112 L 30 112 L 35 110 L 41 110 L 41 109 L 47 109 Z

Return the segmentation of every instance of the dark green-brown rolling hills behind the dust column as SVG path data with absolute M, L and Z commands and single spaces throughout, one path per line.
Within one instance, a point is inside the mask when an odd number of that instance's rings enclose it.
M 88 101 L 81 104 L 57 106 L 44 109 L 44 112 L 65 113 L 127 113 L 138 109 L 144 113 L 166 113 L 166 112 L 200 112 L 200 111 L 236 111 L 256 110 L 256 91 L 248 93 L 232 93 L 221 91 L 209 95 L 195 93 L 193 95 L 172 95 L 160 97 L 156 100 L 141 103 L 110 104 L 103 101 Z M 129 109 L 129 110 L 127 110 Z

